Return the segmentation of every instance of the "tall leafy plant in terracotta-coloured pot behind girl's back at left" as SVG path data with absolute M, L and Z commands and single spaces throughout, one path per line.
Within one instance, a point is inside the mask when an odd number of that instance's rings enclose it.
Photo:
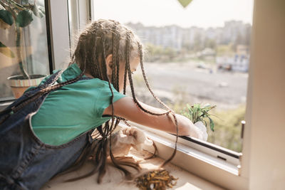
M 0 0 L 0 28 L 9 29 L 14 26 L 16 36 L 16 55 L 11 48 L 7 47 L 0 41 L 0 53 L 10 58 L 16 58 L 19 63 L 21 75 L 14 75 L 8 78 L 9 85 L 12 88 L 14 96 L 20 97 L 30 86 L 38 85 L 46 75 L 28 75 L 26 70 L 26 61 L 22 56 L 21 37 L 22 29 L 33 21 L 33 15 L 43 18 L 45 15 L 44 8 L 27 1 L 26 4 L 19 4 L 14 0 Z

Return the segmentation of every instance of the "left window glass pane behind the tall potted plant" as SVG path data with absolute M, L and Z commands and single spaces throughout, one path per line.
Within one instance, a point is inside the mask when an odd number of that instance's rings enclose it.
M 14 7 L 12 1 L 1 2 L 6 11 L 11 14 L 13 24 L 9 26 L 0 19 L 0 42 L 8 47 L 3 48 L 1 46 L 0 51 L 0 100 L 13 98 L 7 78 L 11 75 L 22 74 L 19 68 L 20 60 L 22 60 L 28 75 L 47 75 L 49 71 L 44 1 L 36 1 L 36 6 L 34 6 L 35 1 L 16 2 L 24 8 L 15 8 L 14 11 L 11 11 L 9 7 Z M 18 35 L 20 48 L 16 48 L 16 31 L 18 30 L 16 29 L 15 19 L 13 19 L 14 16 L 20 18 L 17 20 L 20 26 Z M 20 59 L 18 58 L 19 55 L 21 55 Z

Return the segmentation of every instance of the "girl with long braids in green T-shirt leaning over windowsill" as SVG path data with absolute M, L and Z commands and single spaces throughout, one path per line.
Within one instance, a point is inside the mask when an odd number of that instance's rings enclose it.
M 202 130 L 152 93 L 142 52 L 142 44 L 130 28 L 112 20 L 90 23 L 78 39 L 68 68 L 28 89 L 0 113 L 0 186 L 39 189 L 56 174 L 78 169 L 86 161 L 94 168 L 76 179 L 98 172 L 100 182 L 108 157 L 130 179 L 124 166 L 139 169 L 139 165 L 116 159 L 116 150 L 130 148 L 123 137 L 133 146 L 147 140 L 135 127 L 113 134 L 120 120 L 202 138 Z M 135 97 L 132 73 L 139 64 L 147 88 L 166 110 Z M 132 97 L 125 95 L 128 85 Z

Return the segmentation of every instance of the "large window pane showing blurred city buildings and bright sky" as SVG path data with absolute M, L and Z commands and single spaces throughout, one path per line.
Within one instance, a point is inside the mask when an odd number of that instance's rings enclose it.
M 217 105 L 207 141 L 241 152 L 252 7 L 249 0 L 199 0 L 186 8 L 179 1 L 95 0 L 93 9 L 95 19 L 120 21 L 140 36 L 145 72 L 163 102 L 177 113 L 187 104 Z M 133 77 L 138 99 L 160 107 L 141 73 Z

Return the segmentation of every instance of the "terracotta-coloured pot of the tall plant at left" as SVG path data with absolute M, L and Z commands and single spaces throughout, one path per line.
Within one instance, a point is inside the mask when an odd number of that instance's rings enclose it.
M 9 78 L 9 85 L 15 98 L 21 97 L 25 90 L 31 86 L 37 86 L 46 75 L 30 75 L 30 79 L 23 79 L 23 75 L 14 75 Z

